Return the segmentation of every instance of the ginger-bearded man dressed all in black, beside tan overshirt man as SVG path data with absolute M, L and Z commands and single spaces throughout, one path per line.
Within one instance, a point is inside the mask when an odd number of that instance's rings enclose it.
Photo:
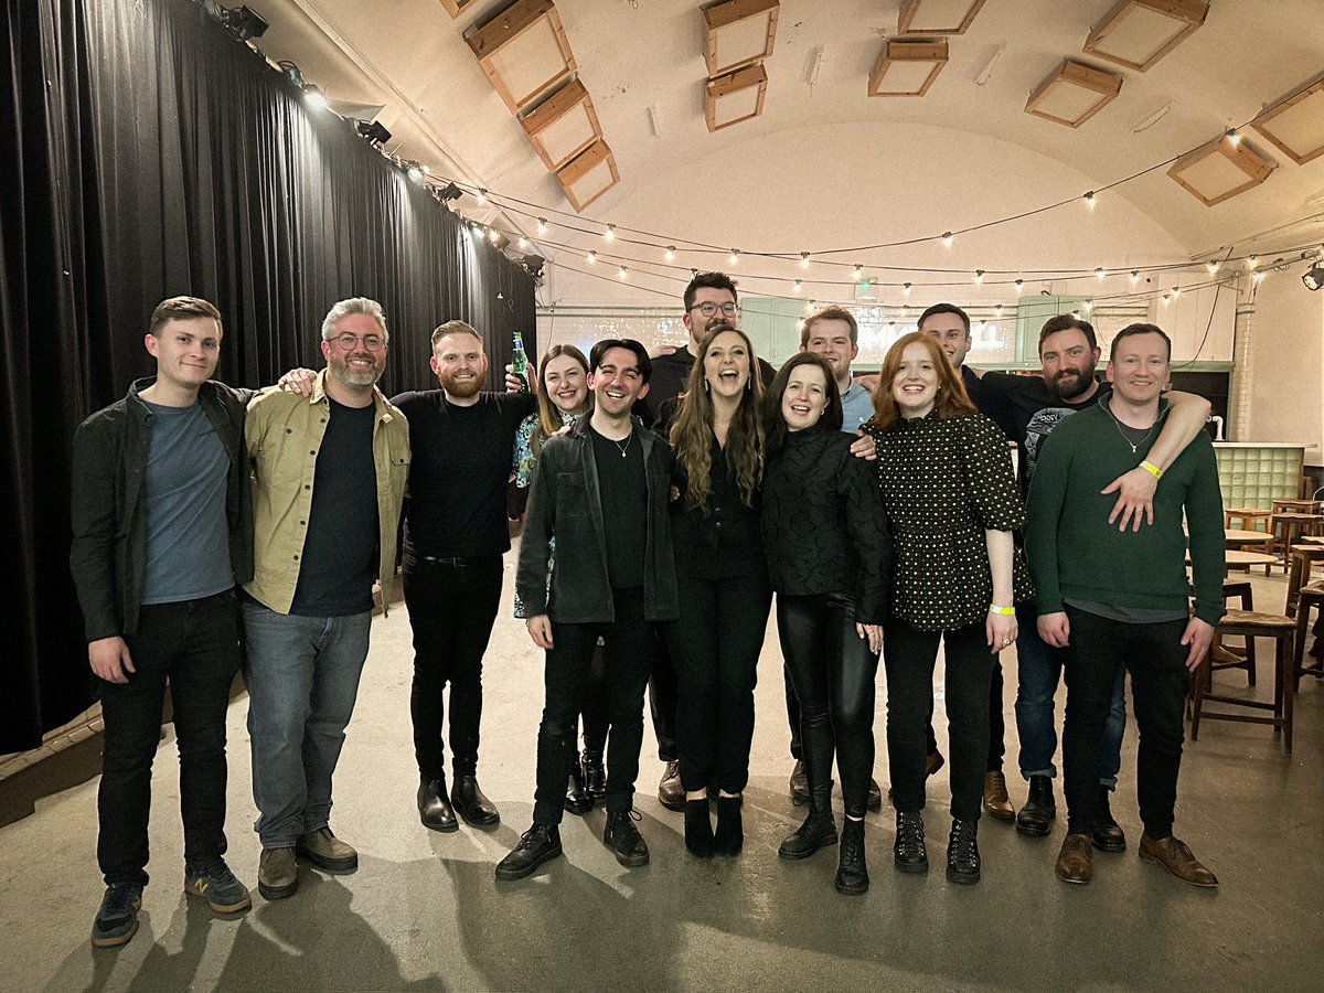
M 510 551 L 506 485 L 519 422 L 536 409 L 528 393 L 483 393 L 482 336 L 463 320 L 432 334 L 432 371 L 441 389 L 392 401 L 409 418 L 413 462 L 405 518 L 404 589 L 413 628 L 409 698 L 418 761 L 418 817 L 453 831 L 458 813 L 494 825 L 496 808 L 478 788 L 483 653 L 500 606 L 502 555 Z M 445 688 L 450 683 L 446 789 Z

